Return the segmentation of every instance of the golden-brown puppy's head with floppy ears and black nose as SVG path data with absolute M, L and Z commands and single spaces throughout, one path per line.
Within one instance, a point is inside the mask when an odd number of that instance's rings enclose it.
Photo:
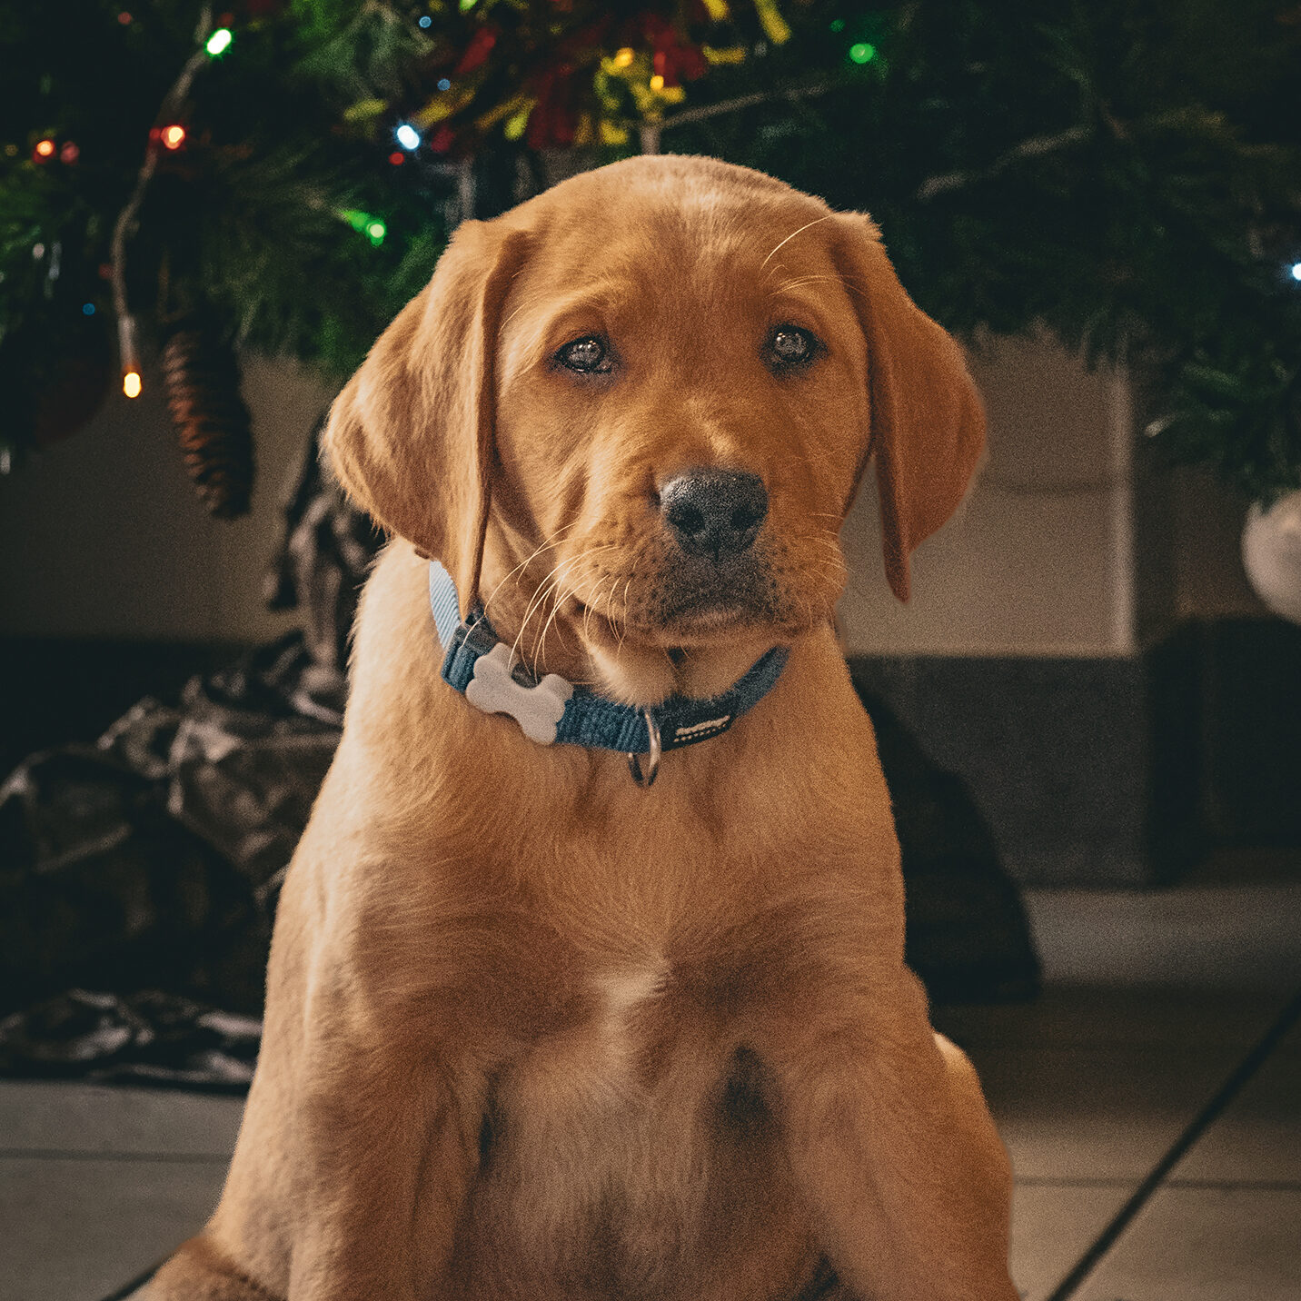
M 961 500 L 984 420 L 868 217 L 665 156 L 463 224 L 327 445 L 355 500 L 451 571 L 464 613 L 487 600 L 549 665 L 576 643 L 587 677 L 650 704 L 683 658 L 730 680 L 727 648 L 830 618 L 870 459 L 907 598 L 908 554 Z

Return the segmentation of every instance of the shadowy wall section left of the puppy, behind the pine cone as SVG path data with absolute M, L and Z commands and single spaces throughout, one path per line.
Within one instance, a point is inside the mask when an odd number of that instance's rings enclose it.
M 181 463 L 156 366 L 135 402 L 0 477 L 0 631 L 178 641 L 260 641 L 293 615 L 262 602 L 286 481 L 330 392 L 311 375 L 245 364 L 258 481 L 245 519 L 211 519 Z

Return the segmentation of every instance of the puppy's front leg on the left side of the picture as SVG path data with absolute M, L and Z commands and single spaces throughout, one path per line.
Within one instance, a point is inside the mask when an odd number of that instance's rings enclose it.
M 477 1166 L 483 1090 L 431 1050 L 317 1045 L 289 1301 L 416 1301 L 446 1281 Z

